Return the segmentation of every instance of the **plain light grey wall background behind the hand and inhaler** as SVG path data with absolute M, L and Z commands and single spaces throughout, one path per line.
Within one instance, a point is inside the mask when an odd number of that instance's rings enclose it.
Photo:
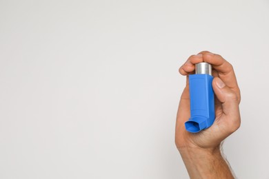
M 269 1 L 0 1 L 0 178 L 188 178 L 175 147 L 201 50 L 241 87 L 224 151 L 269 178 Z

